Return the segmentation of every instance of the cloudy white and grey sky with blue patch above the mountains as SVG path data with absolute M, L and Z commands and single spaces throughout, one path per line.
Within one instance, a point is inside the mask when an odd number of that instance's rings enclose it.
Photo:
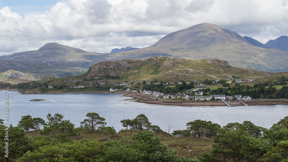
M 50 42 L 100 53 L 143 48 L 201 23 L 266 43 L 288 36 L 288 0 L 1 0 L 0 55 Z

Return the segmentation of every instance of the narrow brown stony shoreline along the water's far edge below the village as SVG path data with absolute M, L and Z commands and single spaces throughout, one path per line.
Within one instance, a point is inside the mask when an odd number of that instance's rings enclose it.
M 145 103 L 145 104 L 158 104 L 158 105 L 171 105 L 171 106 L 227 106 L 223 102 L 211 102 L 211 101 L 172 101 L 172 100 L 162 100 L 162 99 L 149 99 L 148 96 L 143 94 L 135 94 L 135 92 L 21 92 L 18 93 L 23 95 L 29 94 L 123 94 L 124 97 L 131 97 L 135 102 Z M 262 105 L 281 105 L 288 104 L 288 99 L 263 99 L 263 100 L 249 100 L 242 101 L 248 106 L 262 106 Z M 244 106 L 240 102 L 229 102 L 230 106 Z M 229 107 L 229 106 L 228 106 Z

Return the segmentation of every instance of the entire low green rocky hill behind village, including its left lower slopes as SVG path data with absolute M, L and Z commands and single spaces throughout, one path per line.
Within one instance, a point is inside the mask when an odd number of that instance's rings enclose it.
M 235 68 L 225 60 L 206 58 L 202 60 L 179 59 L 158 56 L 146 60 L 104 61 L 93 65 L 86 73 L 77 76 L 49 77 L 39 81 L 21 83 L 12 86 L 20 89 L 37 89 L 41 92 L 90 92 L 109 91 L 119 83 L 133 83 L 140 88 L 146 82 L 177 82 L 180 80 L 192 82 L 226 79 L 253 79 L 254 82 L 278 81 L 281 76 L 288 76 L 288 72 L 271 73 L 249 68 Z M 99 86 L 105 83 L 105 86 Z M 47 89 L 53 85 L 53 89 Z M 84 88 L 70 88 L 83 85 Z M 222 85 L 221 85 L 222 86 Z M 217 86 L 216 86 L 217 87 Z M 37 90 L 37 91 L 39 91 Z

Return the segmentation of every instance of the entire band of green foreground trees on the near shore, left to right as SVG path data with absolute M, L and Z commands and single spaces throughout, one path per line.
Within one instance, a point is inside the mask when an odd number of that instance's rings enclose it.
M 210 152 L 202 153 L 199 159 L 177 157 L 175 150 L 168 150 L 166 144 L 154 132 L 162 131 L 153 126 L 144 114 L 134 119 L 120 121 L 124 129 L 120 131 L 137 131 L 131 143 L 124 139 L 100 142 L 83 138 L 84 131 L 107 133 L 113 127 L 106 127 L 105 118 L 97 113 L 87 113 L 81 126 L 63 115 L 48 113 L 47 121 L 23 116 L 18 126 L 9 127 L 9 158 L 4 157 L 4 138 L 0 139 L 2 151 L 0 161 L 190 161 L 190 162 L 224 162 L 224 161 L 281 161 L 288 159 L 288 116 L 273 124 L 270 129 L 259 127 L 250 121 L 228 123 L 221 127 L 211 121 L 195 120 L 186 124 L 187 129 L 173 131 L 173 136 L 189 138 L 211 138 L 214 144 Z M 5 126 L 0 119 L 0 135 L 5 136 Z M 43 126 L 43 129 L 41 127 Z M 29 138 L 25 131 L 35 129 L 40 136 Z M 116 134 L 115 129 L 111 134 Z

